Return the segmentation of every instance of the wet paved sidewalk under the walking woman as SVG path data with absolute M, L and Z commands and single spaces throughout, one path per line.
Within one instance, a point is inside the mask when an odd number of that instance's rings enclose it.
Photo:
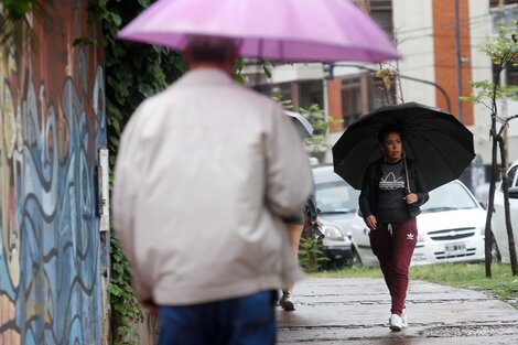
M 381 279 L 311 279 L 293 297 L 296 310 L 277 313 L 279 344 L 518 344 L 518 310 L 483 292 L 411 281 L 402 332 L 388 328 Z

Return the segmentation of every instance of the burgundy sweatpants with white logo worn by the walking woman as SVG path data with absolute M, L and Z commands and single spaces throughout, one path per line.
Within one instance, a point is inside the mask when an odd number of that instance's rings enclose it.
M 416 218 L 403 223 L 382 223 L 376 230 L 370 230 L 369 237 L 392 299 L 390 311 L 401 315 L 407 299 L 408 268 L 418 242 Z

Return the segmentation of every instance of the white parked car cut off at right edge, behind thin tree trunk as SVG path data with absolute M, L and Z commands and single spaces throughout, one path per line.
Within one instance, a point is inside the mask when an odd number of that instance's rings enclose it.
M 507 170 L 509 176 L 509 208 L 512 234 L 515 235 L 515 244 L 518 241 L 518 161 L 515 161 Z M 492 217 L 492 230 L 495 237 L 499 258 L 503 262 L 510 262 L 509 241 L 506 228 L 506 218 L 504 213 L 504 192 L 501 191 L 501 181 L 495 191 L 495 205 Z M 495 246 L 495 245 L 494 245 Z M 518 249 L 518 246 L 517 246 Z M 495 255 L 494 255 L 495 257 Z

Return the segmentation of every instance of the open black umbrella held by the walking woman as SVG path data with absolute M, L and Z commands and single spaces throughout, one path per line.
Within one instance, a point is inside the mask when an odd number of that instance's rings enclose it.
M 379 130 L 401 128 L 403 151 L 433 190 L 457 179 L 475 158 L 473 134 L 453 115 L 418 103 L 381 107 L 350 125 L 333 147 L 334 171 L 357 190 L 370 162 L 382 157 Z

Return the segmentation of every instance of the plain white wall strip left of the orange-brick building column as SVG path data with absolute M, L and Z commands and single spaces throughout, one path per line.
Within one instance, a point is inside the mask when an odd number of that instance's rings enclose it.
M 393 29 L 403 55 L 400 74 L 435 83 L 432 0 L 393 0 Z M 404 101 L 435 106 L 435 87 L 401 79 Z

